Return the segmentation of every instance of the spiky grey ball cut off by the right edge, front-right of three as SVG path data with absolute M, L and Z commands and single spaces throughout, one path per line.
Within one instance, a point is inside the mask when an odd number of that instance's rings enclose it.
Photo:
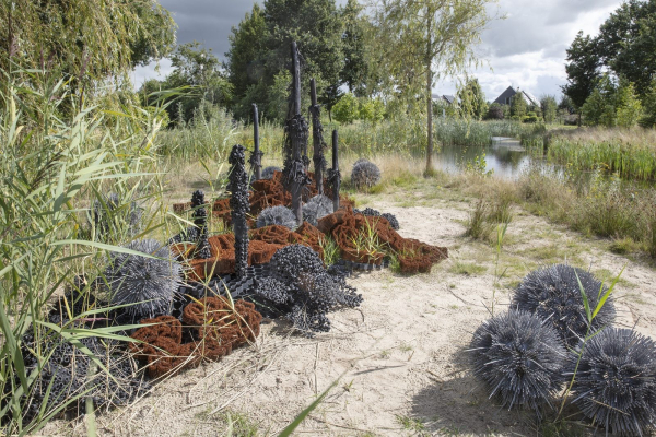
M 567 354 L 565 376 L 578 369 L 572 399 L 596 426 L 623 436 L 656 425 L 656 344 L 630 329 L 606 328 Z

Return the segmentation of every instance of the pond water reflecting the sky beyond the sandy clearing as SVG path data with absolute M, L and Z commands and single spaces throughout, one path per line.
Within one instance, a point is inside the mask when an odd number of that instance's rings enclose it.
M 485 170 L 493 170 L 494 176 L 507 179 L 517 179 L 519 175 L 531 166 L 543 170 L 555 169 L 553 164 L 547 163 L 538 156 L 531 156 L 528 151 L 513 138 L 493 137 L 492 144 L 483 146 L 444 146 L 435 154 L 435 168 L 448 173 L 459 173 L 467 163 L 472 163 L 477 156 L 485 154 Z

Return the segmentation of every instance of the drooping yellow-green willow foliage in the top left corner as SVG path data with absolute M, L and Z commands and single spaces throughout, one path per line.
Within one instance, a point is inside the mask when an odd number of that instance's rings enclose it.
M 56 66 L 102 80 L 168 55 L 175 23 L 155 0 L 0 2 L 0 68 Z

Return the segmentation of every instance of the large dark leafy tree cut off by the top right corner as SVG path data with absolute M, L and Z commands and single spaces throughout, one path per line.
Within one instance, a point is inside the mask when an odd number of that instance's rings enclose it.
M 656 74 L 656 0 L 623 2 L 599 28 L 597 54 L 616 75 L 645 93 Z

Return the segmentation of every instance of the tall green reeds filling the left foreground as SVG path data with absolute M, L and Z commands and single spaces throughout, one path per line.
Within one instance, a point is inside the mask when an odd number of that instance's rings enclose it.
M 90 231 L 89 208 L 103 202 L 105 193 L 118 194 L 117 210 L 129 210 L 134 200 L 147 205 L 139 236 L 164 223 L 155 145 L 160 126 L 156 117 L 133 117 L 133 111 L 75 107 L 83 99 L 45 71 L 0 74 L 0 417 L 4 434 L 26 435 L 85 393 L 24 420 L 31 390 L 52 353 L 32 351 L 38 365 L 28 369 L 21 350 L 25 332 L 33 332 L 37 345 L 46 335 L 69 342 L 103 370 L 102 361 L 79 340 L 129 340 L 116 334 L 129 327 L 86 329 L 77 322 L 107 309 L 69 314 L 70 321 L 60 326 L 48 323 L 46 315 L 57 296 L 75 286 L 77 274 L 89 281 L 99 274 L 106 250 L 131 252 L 96 240 Z M 117 229 L 110 243 L 131 237 L 127 227 Z

